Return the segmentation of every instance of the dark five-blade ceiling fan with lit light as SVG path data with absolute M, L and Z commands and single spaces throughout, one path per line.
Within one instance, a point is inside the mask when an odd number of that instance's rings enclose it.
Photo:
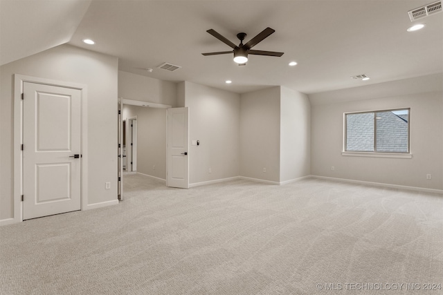
M 253 50 L 255 45 L 263 41 L 266 37 L 269 37 L 275 30 L 271 28 L 265 28 L 262 32 L 260 32 L 257 36 L 253 37 L 253 39 L 246 42 L 246 44 L 243 44 L 243 40 L 246 37 L 245 32 L 239 32 L 237 34 L 237 38 L 240 40 L 239 46 L 236 46 L 233 44 L 233 42 L 229 41 L 225 37 L 221 36 L 218 32 L 216 32 L 213 29 L 207 30 L 206 32 L 210 33 L 210 35 L 213 35 L 220 41 L 222 41 L 224 44 L 230 46 L 233 48 L 233 50 L 230 51 L 219 51 L 217 53 L 201 53 L 202 55 L 224 55 L 228 53 L 234 53 L 234 61 L 239 64 L 239 66 L 246 65 L 246 61 L 248 61 L 248 55 L 267 55 L 270 57 L 281 57 L 283 53 L 277 53 L 275 51 L 264 51 L 264 50 Z

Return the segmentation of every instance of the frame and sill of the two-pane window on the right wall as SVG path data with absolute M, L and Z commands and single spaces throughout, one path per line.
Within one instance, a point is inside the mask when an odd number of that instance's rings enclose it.
M 408 111 L 408 147 L 404 152 L 390 152 L 377 151 L 377 113 L 392 112 L 392 111 Z M 347 115 L 374 113 L 374 151 L 347 151 Z M 343 150 L 342 155 L 361 155 L 367 157 L 381 157 L 381 158 L 412 158 L 410 151 L 410 108 L 387 108 L 373 111 L 356 111 L 343 113 Z

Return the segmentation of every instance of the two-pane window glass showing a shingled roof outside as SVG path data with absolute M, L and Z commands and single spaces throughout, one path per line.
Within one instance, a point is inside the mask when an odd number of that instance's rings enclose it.
M 409 153 L 410 109 L 345 113 L 345 151 Z

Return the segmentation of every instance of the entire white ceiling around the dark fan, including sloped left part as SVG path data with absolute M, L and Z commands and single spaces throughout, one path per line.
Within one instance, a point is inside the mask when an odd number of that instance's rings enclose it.
M 21 39 L 39 36 L 38 46 L 24 44 L 28 54 L 69 40 L 73 46 L 118 57 L 120 70 L 156 79 L 236 93 L 275 85 L 319 93 L 442 73 L 443 13 L 415 21 L 426 23 L 423 30 L 406 32 L 413 24 L 408 10 L 431 2 L 0 0 L 1 61 L 17 58 L 13 53 L 18 42 L 12 46 L 4 41 L 21 32 Z M 71 14 L 61 8 L 63 15 L 54 12 L 55 3 L 69 3 L 63 8 L 72 9 Z M 39 14 L 32 21 L 4 27 L 14 15 L 35 15 L 36 10 Z M 54 13 L 57 17 L 51 18 Z M 42 26 L 48 19 L 53 21 L 51 30 Z M 238 32 L 246 32 L 248 41 L 266 27 L 275 33 L 254 49 L 284 52 L 282 57 L 250 55 L 246 66 L 237 66 L 231 55 L 201 55 L 230 50 L 206 32 L 210 28 L 239 44 Z M 96 44 L 87 46 L 84 38 Z M 165 61 L 182 68 L 174 72 L 156 68 Z M 290 67 L 289 61 L 298 65 Z M 148 73 L 144 68 L 154 70 Z M 350 78 L 360 74 L 371 79 Z M 226 79 L 233 83 L 225 84 Z

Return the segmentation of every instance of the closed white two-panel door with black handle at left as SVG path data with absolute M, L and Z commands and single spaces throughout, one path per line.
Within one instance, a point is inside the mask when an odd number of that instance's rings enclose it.
M 81 91 L 24 83 L 23 219 L 80 210 Z

